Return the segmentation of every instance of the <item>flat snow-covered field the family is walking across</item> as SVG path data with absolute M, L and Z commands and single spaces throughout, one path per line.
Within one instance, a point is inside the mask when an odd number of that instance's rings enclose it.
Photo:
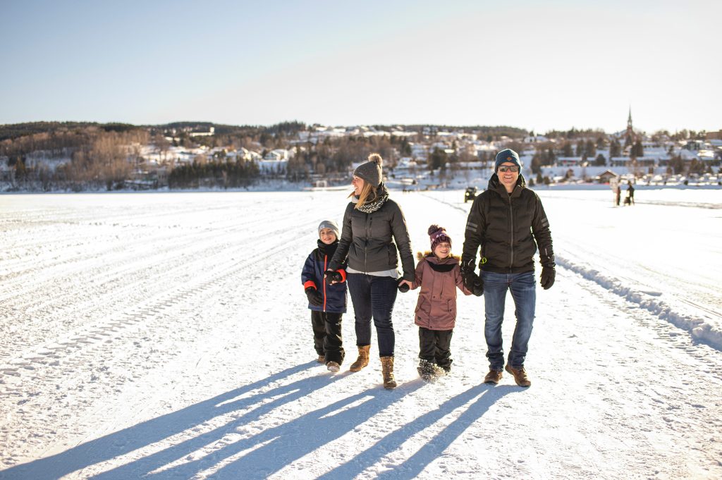
M 410 292 L 390 391 L 352 310 L 315 361 L 300 269 L 345 192 L 0 196 L 0 479 L 722 478 L 722 191 L 539 193 L 531 388 L 482 383 L 478 297 L 419 380 Z M 461 253 L 462 191 L 392 195 Z

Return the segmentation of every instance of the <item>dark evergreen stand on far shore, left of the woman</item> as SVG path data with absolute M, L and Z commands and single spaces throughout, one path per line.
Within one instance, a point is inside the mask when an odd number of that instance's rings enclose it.
M 169 188 L 239 188 L 251 185 L 258 177 L 256 162 L 194 160 L 189 165 L 178 165 L 168 175 Z

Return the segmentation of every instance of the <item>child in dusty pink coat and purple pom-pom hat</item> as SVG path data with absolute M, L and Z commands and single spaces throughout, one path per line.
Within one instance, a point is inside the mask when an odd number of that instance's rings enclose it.
M 433 224 L 427 230 L 431 251 L 419 252 L 412 289 L 421 287 L 414 311 L 419 326 L 419 375 L 432 380 L 451 372 L 451 336 L 456 325 L 456 287 L 471 291 L 461 279 L 458 256 L 451 254 L 451 237 Z

